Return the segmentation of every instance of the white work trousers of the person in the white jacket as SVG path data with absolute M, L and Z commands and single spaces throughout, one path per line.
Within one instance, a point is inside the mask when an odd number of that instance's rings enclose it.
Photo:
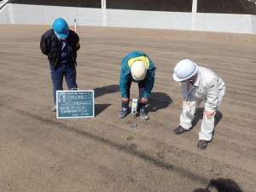
M 221 94 L 224 95 L 224 94 Z M 218 106 L 222 102 L 223 96 L 218 97 Z M 203 101 L 203 99 L 191 96 L 187 104 L 183 104 L 183 112 L 180 115 L 180 124 L 184 129 L 189 130 L 192 126 L 192 120 L 195 117 L 195 110 Z M 212 119 L 207 119 L 207 114 L 203 115 L 201 123 L 201 131 L 199 132 L 199 140 L 212 140 L 212 132 L 214 130 L 214 117 L 218 107 L 212 115 Z

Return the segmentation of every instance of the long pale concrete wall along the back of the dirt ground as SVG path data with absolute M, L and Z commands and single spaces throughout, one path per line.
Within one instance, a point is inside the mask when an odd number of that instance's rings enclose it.
M 0 24 L 52 25 L 62 17 L 73 26 L 118 26 L 208 32 L 256 33 L 256 15 L 200 14 L 120 9 L 68 8 L 8 3 Z

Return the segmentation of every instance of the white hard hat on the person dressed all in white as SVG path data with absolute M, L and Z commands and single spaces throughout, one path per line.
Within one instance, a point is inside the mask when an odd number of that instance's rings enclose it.
M 177 81 L 183 81 L 194 76 L 198 71 L 198 67 L 195 62 L 188 59 L 177 62 L 177 65 L 174 67 L 174 73 L 172 78 Z

